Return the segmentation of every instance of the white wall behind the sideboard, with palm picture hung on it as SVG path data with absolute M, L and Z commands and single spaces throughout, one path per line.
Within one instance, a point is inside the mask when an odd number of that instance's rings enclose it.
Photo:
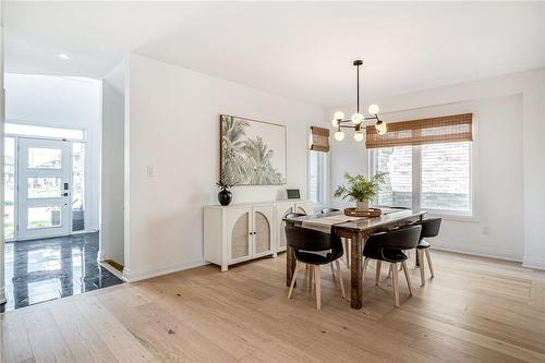
M 233 203 L 276 199 L 290 186 L 306 196 L 307 133 L 320 108 L 135 55 L 125 81 L 130 280 L 203 263 L 203 206 L 217 204 L 220 113 L 288 126 L 288 184 L 234 187 Z

